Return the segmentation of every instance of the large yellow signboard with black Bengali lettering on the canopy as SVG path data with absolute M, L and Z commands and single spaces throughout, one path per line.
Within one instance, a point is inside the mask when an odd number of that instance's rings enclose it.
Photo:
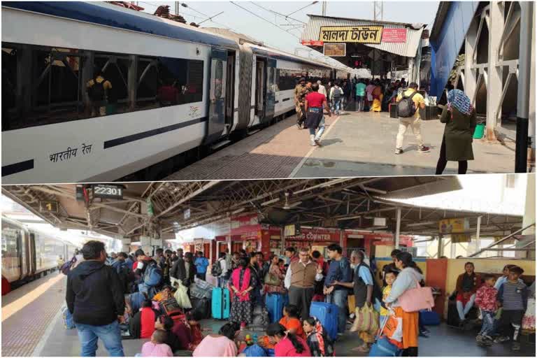
M 383 26 L 322 26 L 319 41 L 324 43 L 375 43 L 382 41 Z

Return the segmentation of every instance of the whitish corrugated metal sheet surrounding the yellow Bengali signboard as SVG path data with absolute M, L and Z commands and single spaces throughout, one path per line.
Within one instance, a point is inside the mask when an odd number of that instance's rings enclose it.
M 302 40 L 318 41 L 322 26 L 371 26 L 382 25 L 385 29 L 407 29 L 405 43 L 380 43 L 371 45 L 364 43 L 370 48 L 393 53 L 395 55 L 415 57 L 417 47 L 420 45 L 423 27 L 421 24 L 403 24 L 400 22 L 383 22 L 359 19 L 347 19 L 345 17 L 328 17 L 308 15 L 310 20 L 302 33 Z

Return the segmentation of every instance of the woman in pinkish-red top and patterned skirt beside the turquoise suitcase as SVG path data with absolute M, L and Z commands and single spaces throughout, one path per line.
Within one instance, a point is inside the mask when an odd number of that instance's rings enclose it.
M 241 257 L 238 267 L 231 273 L 229 289 L 233 296 L 229 322 L 241 324 L 241 330 L 252 322 L 252 303 L 250 302 L 250 291 L 255 287 L 255 277 L 248 268 L 248 259 Z

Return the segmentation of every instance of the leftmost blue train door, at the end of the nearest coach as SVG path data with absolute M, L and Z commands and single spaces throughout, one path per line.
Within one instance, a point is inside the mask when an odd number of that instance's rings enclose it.
M 204 144 L 217 141 L 225 132 L 226 62 L 226 50 L 211 49 L 207 135 Z

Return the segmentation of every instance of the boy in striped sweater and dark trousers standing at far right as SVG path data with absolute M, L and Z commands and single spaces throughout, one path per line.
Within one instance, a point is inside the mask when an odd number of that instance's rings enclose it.
M 500 317 L 501 336 L 494 343 L 502 343 L 513 339 L 512 350 L 520 350 L 520 330 L 522 317 L 526 312 L 528 303 L 528 287 L 519 281 L 524 270 L 519 266 L 511 266 L 506 282 L 503 282 L 496 295 L 498 306 L 503 307 Z M 511 336 L 513 331 L 513 336 Z

